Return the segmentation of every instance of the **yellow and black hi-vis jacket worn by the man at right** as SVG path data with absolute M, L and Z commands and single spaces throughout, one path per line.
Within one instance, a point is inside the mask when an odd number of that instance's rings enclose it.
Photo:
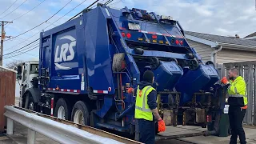
M 238 76 L 234 82 L 230 81 L 227 94 L 229 97 L 228 103 L 230 106 L 246 106 L 248 103 L 246 82 L 241 76 Z

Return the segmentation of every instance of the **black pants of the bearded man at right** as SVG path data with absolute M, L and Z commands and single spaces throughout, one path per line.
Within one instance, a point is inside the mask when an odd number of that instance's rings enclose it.
M 236 144 L 239 136 L 240 143 L 246 144 L 246 134 L 242 128 L 242 120 L 245 117 L 246 109 L 241 109 L 239 106 L 229 107 L 231 138 L 230 144 Z

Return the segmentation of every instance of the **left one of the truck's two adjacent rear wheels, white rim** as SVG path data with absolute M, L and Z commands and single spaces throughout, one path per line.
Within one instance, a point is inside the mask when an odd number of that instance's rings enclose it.
M 54 117 L 70 120 L 70 106 L 66 103 L 64 98 L 58 99 L 54 109 Z

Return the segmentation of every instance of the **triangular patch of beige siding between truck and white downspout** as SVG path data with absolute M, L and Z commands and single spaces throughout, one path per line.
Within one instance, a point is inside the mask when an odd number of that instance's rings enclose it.
M 186 39 L 186 41 L 197 51 L 203 62 L 210 61 L 210 54 L 214 51 L 214 48 L 200 42 L 191 41 L 189 39 Z

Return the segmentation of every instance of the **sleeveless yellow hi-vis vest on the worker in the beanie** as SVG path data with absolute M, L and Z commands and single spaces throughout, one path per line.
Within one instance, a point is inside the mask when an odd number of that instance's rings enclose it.
M 152 86 L 145 86 L 142 90 L 137 89 L 136 103 L 135 103 L 135 117 L 142 118 L 148 121 L 153 121 L 153 114 L 147 104 L 147 96 L 152 90 L 155 90 Z

